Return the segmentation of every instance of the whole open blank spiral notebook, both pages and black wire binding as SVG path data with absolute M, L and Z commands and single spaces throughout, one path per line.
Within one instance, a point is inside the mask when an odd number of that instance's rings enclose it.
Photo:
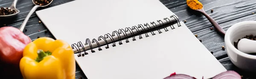
M 36 14 L 70 43 L 88 79 L 207 79 L 227 71 L 159 0 L 74 0 Z

